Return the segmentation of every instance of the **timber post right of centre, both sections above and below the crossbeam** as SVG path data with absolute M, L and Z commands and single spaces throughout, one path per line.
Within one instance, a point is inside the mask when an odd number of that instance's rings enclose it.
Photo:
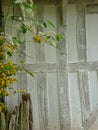
M 87 43 L 86 43 L 86 3 L 81 1 L 76 5 L 77 10 L 77 45 L 78 60 L 87 61 Z M 79 91 L 81 102 L 82 125 L 90 112 L 90 95 L 89 95 L 89 76 L 88 70 L 79 70 Z

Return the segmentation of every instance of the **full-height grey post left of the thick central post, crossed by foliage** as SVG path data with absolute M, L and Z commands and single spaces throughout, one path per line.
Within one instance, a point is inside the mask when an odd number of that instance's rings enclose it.
M 43 20 L 44 6 L 40 5 L 36 10 L 37 20 Z M 39 28 L 40 30 L 40 28 Z M 36 44 L 36 63 L 45 63 L 45 46 Z M 41 66 L 43 68 L 43 66 Z M 40 66 L 39 66 L 40 68 Z M 39 68 L 37 68 L 39 70 Z M 41 68 L 41 69 L 42 69 Z M 42 69 L 43 70 L 43 69 Z M 40 70 L 41 71 L 41 70 Z M 47 74 L 46 72 L 41 72 L 37 74 L 37 93 L 38 93 L 38 109 L 39 109 L 39 129 L 47 130 L 49 127 L 49 117 L 48 117 L 48 99 L 47 99 Z

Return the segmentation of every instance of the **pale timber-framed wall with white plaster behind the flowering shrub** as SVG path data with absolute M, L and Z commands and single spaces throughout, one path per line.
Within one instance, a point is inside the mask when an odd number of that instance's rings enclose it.
M 35 2 L 39 3 L 35 18 L 52 21 L 64 39 L 55 49 L 32 43 L 32 36 L 27 33 L 20 48 L 27 56 L 17 54 L 13 59 L 16 63 L 24 61 L 27 69 L 36 73 L 34 79 L 19 73 L 19 82 L 15 84 L 16 88 L 26 88 L 31 94 L 34 130 L 97 130 L 98 2 Z M 6 5 L 3 8 L 6 11 Z M 12 7 L 9 11 L 13 12 Z M 5 26 L 7 32 L 21 35 L 11 30 L 15 23 L 7 22 Z M 6 102 L 12 109 L 19 100 L 20 95 L 16 95 Z

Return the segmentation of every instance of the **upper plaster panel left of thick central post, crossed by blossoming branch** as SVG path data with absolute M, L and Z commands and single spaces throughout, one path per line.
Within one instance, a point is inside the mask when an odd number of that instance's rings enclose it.
M 46 5 L 44 7 L 43 19 L 51 21 L 56 26 L 56 6 Z M 45 31 L 53 30 L 56 31 L 56 28 L 52 28 L 50 25 Z M 46 45 L 46 62 L 56 62 L 56 48 Z

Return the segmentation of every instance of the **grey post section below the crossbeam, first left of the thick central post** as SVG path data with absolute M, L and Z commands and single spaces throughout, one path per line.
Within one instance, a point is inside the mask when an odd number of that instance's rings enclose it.
M 47 102 L 47 85 L 46 74 L 37 74 L 38 106 L 40 130 L 48 129 L 48 102 Z

